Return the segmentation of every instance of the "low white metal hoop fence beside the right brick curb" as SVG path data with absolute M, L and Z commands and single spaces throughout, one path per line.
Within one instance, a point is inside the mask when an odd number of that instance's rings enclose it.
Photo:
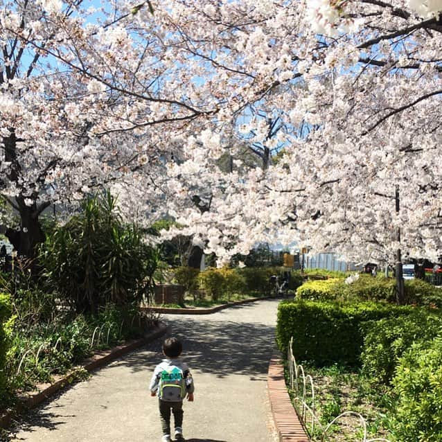
M 293 337 L 290 338 L 287 356 L 290 377 L 289 387 L 294 397 L 294 407 L 297 409 L 298 416 L 312 441 L 332 441 L 329 432 L 333 425 L 339 424 L 342 418 L 353 416 L 357 419 L 357 423 L 359 423 L 360 427 L 362 427 L 362 439 L 355 439 L 355 442 L 357 440 L 360 440 L 360 442 L 390 442 L 388 439 L 382 437 L 367 439 L 366 419 L 362 414 L 353 411 L 346 411 L 339 414 L 339 416 L 335 417 L 333 421 L 324 427 L 316 413 L 315 382 L 312 376 L 305 373 L 303 366 L 297 364 L 293 355 Z

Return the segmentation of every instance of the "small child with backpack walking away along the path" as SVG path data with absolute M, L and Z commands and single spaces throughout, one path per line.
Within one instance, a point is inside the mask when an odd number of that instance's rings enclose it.
M 193 402 L 193 378 L 188 366 L 179 359 L 182 343 L 175 337 L 163 342 L 163 355 L 166 359 L 158 364 L 150 381 L 150 395 L 159 398 L 159 415 L 163 430 L 162 442 L 170 442 L 170 411 L 175 423 L 175 440 L 184 441 L 183 437 L 183 400 Z

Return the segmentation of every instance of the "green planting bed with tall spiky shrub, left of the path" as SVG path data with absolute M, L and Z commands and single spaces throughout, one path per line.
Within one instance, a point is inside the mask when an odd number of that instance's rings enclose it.
M 48 228 L 33 264 L 39 274 L 21 260 L 0 274 L 0 407 L 158 322 L 140 309 L 153 290 L 157 253 L 136 225 L 123 222 L 109 192 Z

